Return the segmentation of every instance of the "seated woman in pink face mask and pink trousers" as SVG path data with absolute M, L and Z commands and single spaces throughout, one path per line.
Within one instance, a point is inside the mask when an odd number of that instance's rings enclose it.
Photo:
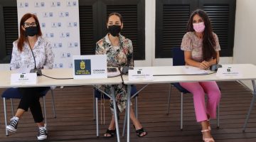
M 182 39 L 186 65 L 206 70 L 218 63 L 220 44 L 213 33 L 210 20 L 205 11 L 193 11 L 188 21 L 188 33 Z M 215 119 L 216 108 L 220 102 L 220 89 L 216 82 L 181 82 L 182 87 L 193 94 L 196 120 L 201 123 L 203 141 L 213 142 L 209 119 Z M 207 104 L 205 94 L 208 95 Z

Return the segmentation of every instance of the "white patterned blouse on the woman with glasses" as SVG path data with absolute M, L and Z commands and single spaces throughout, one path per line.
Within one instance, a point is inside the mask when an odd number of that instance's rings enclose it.
M 52 69 L 53 68 L 53 51 L 52 46 L 45 38 L 38 37 L 34 48 L 33 54 L 28 43 L 24 43 L 23 50 L 20 52 L 17 46 L 18 40 L 14 41 L 13 50 L 11 54 L 11 70 L 31 70 L 35 68 L 33 55 L 36 59 L 36 68 Z

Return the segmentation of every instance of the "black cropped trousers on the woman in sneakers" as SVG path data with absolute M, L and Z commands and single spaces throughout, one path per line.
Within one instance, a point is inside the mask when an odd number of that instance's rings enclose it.
M 41 96 L 41 92 L 50 89 L 50 87 L 24 87 L 18 88 L 18 91 L 22 95 L 22 99 L 18 104 L 18 109 L 23 109 L 28 111 L 28 108 L 31 110 L 31 114 L 36 123 L 40 123 L 43 121 L 43 114 L 41 109 L 41 104 L 39 99 Z

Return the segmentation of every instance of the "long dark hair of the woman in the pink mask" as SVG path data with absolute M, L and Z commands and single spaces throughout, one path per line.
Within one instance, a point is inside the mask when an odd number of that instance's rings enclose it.
M 211 58 L 217 58 L 217 53 L 215 51 L 215 38 L 213 37 L 213 28 L 210 23 L 210 19 L 206 13 L 201 9 L 197 9 L 191 13 L 191 16 L 188 21 L 188 31 L 195 31 L 193 29 L 193 16 L 198 14 L 203 19 L 203 22 L 206 26 L 203 31 L 203 60 L 210 60 Z

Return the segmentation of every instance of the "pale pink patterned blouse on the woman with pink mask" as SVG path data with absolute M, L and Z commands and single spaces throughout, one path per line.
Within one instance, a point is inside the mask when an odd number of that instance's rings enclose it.
M 220 50 L 218 36 L 213 33 L 215 38 L 215 51 Z M 197 62 L 203 62 L 203 39 L 198 38 L 194 32 L 188 32 L 183 36 L 181 50 L 191 51 L 191 58 Z

